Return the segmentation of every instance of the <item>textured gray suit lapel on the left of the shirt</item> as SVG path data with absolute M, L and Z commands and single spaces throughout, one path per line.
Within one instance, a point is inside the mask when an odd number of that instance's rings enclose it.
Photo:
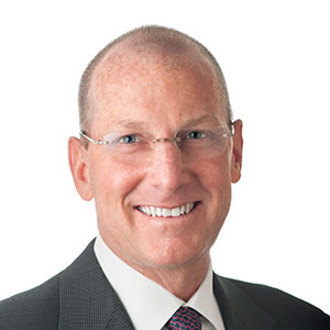
M 95 240 L 61 276 L 59 330 L 131 329 L 132 322 L 94 253 Z

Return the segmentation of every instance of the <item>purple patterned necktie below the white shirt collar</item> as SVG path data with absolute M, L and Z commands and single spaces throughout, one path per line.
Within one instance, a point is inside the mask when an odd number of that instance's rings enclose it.
M 199 314 L 190 307 L 180 307 L 166 323 L 169 330 L 201 330 Z

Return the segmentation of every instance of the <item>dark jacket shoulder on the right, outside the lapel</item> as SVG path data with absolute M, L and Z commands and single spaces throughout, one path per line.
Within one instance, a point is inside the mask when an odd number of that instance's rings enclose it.
M 301 299 L 266 285 L 217 277 L 221 286 L 239 290 L 280 324 L 292 329 L 330 330 L 329 316 Z

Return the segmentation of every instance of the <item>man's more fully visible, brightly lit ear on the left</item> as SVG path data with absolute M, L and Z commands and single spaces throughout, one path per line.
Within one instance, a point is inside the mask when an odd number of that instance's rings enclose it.
M 79 139 L 72 136 L 68 141 L 68 157 L 76 189 L 85 200 L 92 198 L 92 189 L 87 166 L 87 150 Z

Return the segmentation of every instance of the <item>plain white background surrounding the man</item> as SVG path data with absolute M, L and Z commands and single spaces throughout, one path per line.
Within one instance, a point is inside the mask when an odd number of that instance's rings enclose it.
M 97 234 L 67 140 L 77 89 L 108 42 L 178 29 L 218 58 L 244 122 L 242 179 L 212 250 L 224 276 L 330 312 L 329 1 L 4 1 L 0 6 L 0 299 L 65 268 Z

